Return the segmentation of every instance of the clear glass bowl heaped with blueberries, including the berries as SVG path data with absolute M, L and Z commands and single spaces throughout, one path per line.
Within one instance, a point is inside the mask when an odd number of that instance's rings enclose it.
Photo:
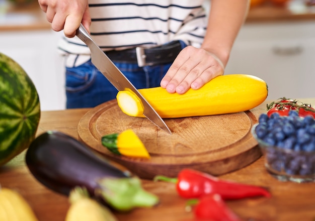
M 262 114 L 252 127 L 267 171 L 280 181 L 315 181 L 315 120 L 290 110 L 286 116 Z

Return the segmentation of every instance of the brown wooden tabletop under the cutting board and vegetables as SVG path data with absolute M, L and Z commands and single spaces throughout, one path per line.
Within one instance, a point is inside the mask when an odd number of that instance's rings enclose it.
M 303 101 L 315 103 L 315 99 Z M 265 107 L 265 103 L 261 105 Z M 84 109 L 42 112 L 37 135 L 47 130 L 58 130 L 77 138 L 77 124 Z M 40 184 L 29 172 L 24 162 L 25 152 L 0 167 L 0 184 L 16 189 L 29 202 L 41 221 L 62 221 L 69 207 L 67 197 L 55 193 Z M 238 171 L 220 176 L 242 183 L 266 186 L 271 198 L 247 198 L 226 201 L 242 220 L 314 220 L 315 183 L 280 182 L 264 168 L 264 157 Z M 186 200 L 180 198 L 174 184 L 142 180 L 143 187 L 158 195 L 159 205 L 153 208 L 137 208 L 131 212 L 115 213 L 119 220 L 192 220 L 192 213 L 185 211 Z

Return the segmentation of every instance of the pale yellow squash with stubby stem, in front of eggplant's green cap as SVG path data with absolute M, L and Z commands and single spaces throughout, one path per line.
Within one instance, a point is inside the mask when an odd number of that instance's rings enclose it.
M 90 198 L 85 188 L 75 187 L 70 192 L 71 203 L 65 221 L 117 221 L 111 210 Z

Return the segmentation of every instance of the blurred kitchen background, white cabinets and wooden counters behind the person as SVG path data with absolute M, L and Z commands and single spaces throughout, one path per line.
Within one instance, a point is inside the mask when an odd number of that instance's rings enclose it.
M 315 96 L 315 1 L 252 0 L 225 74 L 256 75 L 268 100 Z M 236 2 L 235 2 L 236 4 Z M 208 11 L 210 0 L 205 0 Z M 42 111 L 65 108 L 64 69 L 54 32 L 37 0 L 0 0 L 0 52 L 32 78 Z

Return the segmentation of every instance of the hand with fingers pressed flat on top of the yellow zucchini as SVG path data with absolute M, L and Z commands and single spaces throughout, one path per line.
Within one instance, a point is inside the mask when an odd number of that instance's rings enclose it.
M 184 48 L 161 81 L 161 87 L 170 93 L 185 93 L 189 88 L 199 89 L 224 72 L 224 65 L 214 54 L 193 46 Z

